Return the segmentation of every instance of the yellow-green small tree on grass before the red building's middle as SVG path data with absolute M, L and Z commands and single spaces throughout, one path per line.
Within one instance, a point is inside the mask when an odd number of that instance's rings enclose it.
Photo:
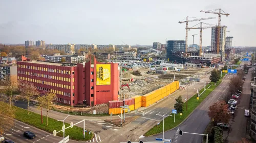
M 48 126 L 48 112 L 53 109 L 54 102 L 56 101 L 56 94 L 55 93 L 46 93 L 44 96 L 40 96 L 37 98 L 38 101 L 38 108 L 45 108 L 46 109 L 46 126 Z

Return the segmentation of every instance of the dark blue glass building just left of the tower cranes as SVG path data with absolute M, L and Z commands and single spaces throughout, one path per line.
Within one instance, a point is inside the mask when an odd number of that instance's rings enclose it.
M 185 40 L 167 40 L 166 61 L 184 63 L 186 60 L 180 54 L 185 53 L 185 45 Z

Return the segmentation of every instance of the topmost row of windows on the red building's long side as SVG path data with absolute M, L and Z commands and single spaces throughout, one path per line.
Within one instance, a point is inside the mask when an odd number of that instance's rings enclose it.
M 18 65 L 20 68 L 27 68 L 27 69 L 35 69 L 35 70 L 41 70 L 41 71 L 48 71 L 52 73 L 59 73 L 59 74 L 71 74 L 70 70 L 60 70 L 60 69 L 52 69 L 47 67 L 36 67 L 36 66 L 29 66 L 29 65 Z M 75 74 L 75 71 L 72 71 L 72 75 Z

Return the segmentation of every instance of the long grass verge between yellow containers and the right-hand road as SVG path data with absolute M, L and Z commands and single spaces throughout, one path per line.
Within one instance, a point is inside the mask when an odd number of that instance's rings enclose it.
M 222 73 L 222 78 L 225 76 L 225 73 Z M 185 118 L 191 113 L 193 112 L 197 106 L 200 105 L 201 102 L 204 101 L 204 99 L 210 94 L 211 91 L 213 91 L 220 83 L 221 83 L 222 79 L 220 79 L 220 81 L 218 81 L 216 83 L 216 85 L 214 85 L 213 83 L 209 83 L 206 86 L 206 90 L 204 91 L 204 93 L 201 94 L 201 96 L 199 97 L 199 100 L 197 100 L 197 94 L 195 94 L 193 97 L 191 97 L 188 100 L 187 103 L 187 111 L 186 111 L 186 102 L 183 104 L 183 113 L 182 115 L 180 115 L 179 113 L 176 114 L 175 116 L 175 123 L 174 123 L 174 115 L 171 113 L 170 115 L 173 116 L 168 116 L 164 119 L 164 131 L 170 130 L 172 128 L 175 128 L 176 126 L 178 126 L 181 122 L 183 122 L 185 120 Z M 211 86 L 210 86 L 211 85 Z M 210 86 L 210 87 L 209 87 Z M 209 88 L 208 88 L 209 87 Z M 208 88 L 208 89 L 207 89 Z M 203 89 L 200 90 L 200 93 L 204 90 Z M 144 136 L 151 136 L 151 135 L 155 135 L 158 133 L 161 133 L 163 131 L 163 121 L 160 122 L 160 125 L 156 125 L 155 127 L 153 127 L 152 129 L 150 129 L 149 131 L 147 131 Z

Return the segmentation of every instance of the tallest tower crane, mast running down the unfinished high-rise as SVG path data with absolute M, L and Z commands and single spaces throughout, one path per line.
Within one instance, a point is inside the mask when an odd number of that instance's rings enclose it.
M 216 12 L 216 11 L 219 11 L 219 12 Z M 222 9 L 215 9 L 215 10 L 208 10 L 208 11 L 203 11 L 201 10 L 200 12 L 205 12 L 205 13 L 212 13 L 212 14 L 218 14 L 219 15 L 219 21 L 218 21 L 218 27 L 216 27 L 216 37 L 215 38 L 215 44 L 216 44 L 216 50 L 217 51 L 216 53 L 219 54 L 220 53 L 220 28 L 221 28 L 221 15 L 226 15 L 228 16 L 229 13 L 226 13 L 224 12 Z M 223 12 L 223 13 L 222 13 Z

